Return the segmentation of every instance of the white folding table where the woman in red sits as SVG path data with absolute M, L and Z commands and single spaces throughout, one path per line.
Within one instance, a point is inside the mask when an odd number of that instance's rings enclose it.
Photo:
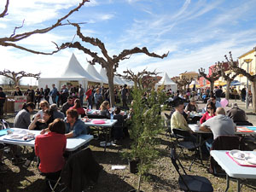
M 26 130 L 26 129 L 20 129 L 20 128 L 11 128 L 11 129 L 23 130 L 23 131 Z M 38 136 L 40 134 L 40 131 L 35 131 L 35 130 L 26 130 L 26 131 L 32 132 L 33 134 L 35 134 L 35 136 Z M 80 135 L 79 137 L 67 138 L 66 150 L 74 151 L 79 147 L 82 147 L 84 144 L 89 143 L 92 139 L 93 139 L 93 136 L 90 136 L 90 135 Z M 21 142 L 21 141 L 15 141 L 15 140 L 7 140 L 7 139 L 4 139 L 4 136 L 2 136 L 0 137 L 0 143 L 34 147 L 35 139 L 29 142 Z

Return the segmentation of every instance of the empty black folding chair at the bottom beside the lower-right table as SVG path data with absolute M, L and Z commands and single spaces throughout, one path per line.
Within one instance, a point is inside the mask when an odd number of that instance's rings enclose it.
M 179 177 L 178 177 L 178 185 L 179 188 L 183 191 L 195 191 L 195 192 L 212 192 L 212 183 L 206 178 L 201 176 L 188 175 L 181 162 L 177 159 L 177 154 L 175 152 L 175 148 L 171 148 L 171 160 L 172 165 L 175 167 Z M 178 162 L 178 165 L 177 165 Z M 183 173 L 179 172 L 179 166 L 182 168 Z

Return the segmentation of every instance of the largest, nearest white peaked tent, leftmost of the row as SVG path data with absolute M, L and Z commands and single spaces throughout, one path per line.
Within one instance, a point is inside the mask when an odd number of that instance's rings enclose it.
M 76 56 L 73 54 L 67 64 L 67 67 L 65 67 L 60 75 L 56 76 L 55 78 L 38 79 L 38 87 L 44 88 L 46 84 L 55 84 L 55 87 L 60 90 L 62 84 L 67 84 L 67 82 L 78 82 L 78 84 L 82 84 L 82 86 L 85 88 L 87 87 L 89 81 L 101 83 L 100 79 L 92 77 L 84 70 Z M 49 88 L 51 87 L 49 86 Z

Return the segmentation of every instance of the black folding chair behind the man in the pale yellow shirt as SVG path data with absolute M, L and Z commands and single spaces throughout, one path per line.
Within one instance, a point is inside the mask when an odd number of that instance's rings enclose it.
M 180 153 L 183 153 L 184 158 L 186 159 L 186 155 L 184 154 L 183 149 L 188 149 L 190 151 L 195 151 L 194 159 L 191 162 L 191 165 L 189 166 L 189 171 L 191 170 L 191 166 L 194 164 L 196 157 L 198 157 L 199 160 L 201 160 L 200 155 L 200 148 L 201 143 L 196 143 L 194 140 L 194 136 L 189 133 L 189 131 L 184 131 L 181 129 L 172 129 L 173 136 L 176 138 L 177 147 L 181 149 Z M 182 139 L 182 140 L 181 140 Z M 201 164 L 203 165 L 203 162 L 201 160 Z

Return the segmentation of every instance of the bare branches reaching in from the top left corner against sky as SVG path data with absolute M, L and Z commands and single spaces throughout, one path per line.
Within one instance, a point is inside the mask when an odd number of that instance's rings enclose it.
M 16 30 L 22 28 L 24 23 L 22 23 L 21 26 L 16 26 L 15 29 L 14 29 L 13 34 L 11 34 L 9 37 L 0 38 L 0 45 L 2 45 L 4 47 L 15 47 L 15 48 L 18 48 L 18 49 L 26 50 L 26 51 L 31 52 L 33 54 L 42 54 L 42 55 L 53 55 L 53 54 L 55 54 L 56 52 L 58 52 L 62 48 L 58 47 L 57 44 L 55 44 L 54 42 L 53 43 L 56 45 L 56 49 L 54 51 L 50 52 L 50 53 L 44 53 L 44 52 L 41 52 L 41 51 L 38 51 L 38 50 L 28 49 L 28 48 L 23 47 L 23 46 L 21 46 L 19 44 L 16 44 L 16 43 L 19 42 L 22 39 L 29 38 L 30 36 L 32 36 L 34 34 L 44 34 L 46 32 L 49 32 L 57 26 L 70 25 L 69 23 L 62 23 L 62 21 L 66 20 L 69 15 L 73 14 L 73 12 L 79 11 L 79 9 L 84 5 L 85 2 L 89 2 L 89 0 L 83 0 L 82 3 L 79 3 L 78 7 L 76 7 L 75 9 L 72 9 L 67 15 L 61 17 L 61 19 L 57 20 L 55 22 L 55 24 L 52 25 L 52 26 L 48 26 L 48 27 L 43 28 L 43 29 L 36 29 L 36 30 L 30 31 L 30 32 L 23 32 L 23 33 L 19 33 L 19 34 L 16 34 Z M 6 15 L 8 15 L 8 13 L 7 13 L 8 9 L 9 9 L 9 0 L 6 0 L 5 9 L 0 14 L 0 18 L 3 18 Z

